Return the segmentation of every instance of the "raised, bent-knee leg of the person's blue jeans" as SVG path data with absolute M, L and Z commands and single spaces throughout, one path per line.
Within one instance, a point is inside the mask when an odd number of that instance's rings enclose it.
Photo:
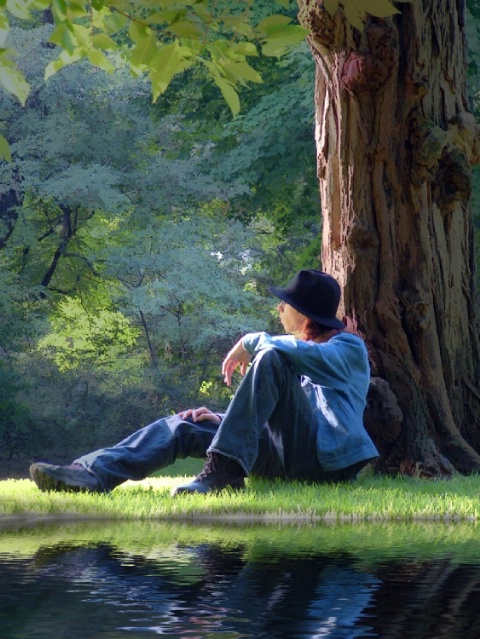
M 210 451 L 264 477 L 327 479 L 316 452 L 318 423 L 285 357 L 260 351 L 240 384 Z

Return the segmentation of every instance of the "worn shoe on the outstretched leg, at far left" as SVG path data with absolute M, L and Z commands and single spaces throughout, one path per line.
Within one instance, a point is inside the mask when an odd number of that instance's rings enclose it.
M 80 464 L 71 464 L 70 466 L 32 464 L 30 477 L 43 491 L 104 492 L 98 479 Z

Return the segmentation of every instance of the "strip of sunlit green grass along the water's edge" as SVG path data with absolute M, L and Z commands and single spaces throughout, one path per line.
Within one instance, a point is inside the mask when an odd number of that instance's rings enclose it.
M 171 488 L 184 482 L 185 475 L 194 475 L 195 464 L 171 467 L 176 476 L 126 482 L 107 495 L 42 493 L 28 479 L 0 481 L 0 523 L 7 524 L 12 518 L 197 523 L 480 521 L 477 475 L 425 480 L 375 477 L 367 471 L 352 484 L 336 485 L 252 478 L 244 491 L 173 499 Z

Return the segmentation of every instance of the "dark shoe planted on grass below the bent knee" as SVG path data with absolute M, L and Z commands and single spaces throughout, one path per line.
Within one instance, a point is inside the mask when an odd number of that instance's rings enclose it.
M 224 488 L 237 490 L 244 487 L 245 471 L 240 464 L 225 455 L 209 453 L 202 472 L 189 484 L 174 488 L 172 497 L 183 493 L 211 493 Z

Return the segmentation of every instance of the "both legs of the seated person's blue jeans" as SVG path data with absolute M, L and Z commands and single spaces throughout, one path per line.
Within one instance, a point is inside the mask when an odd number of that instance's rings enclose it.
M 353 477 L 366 462 L 324 471 L 316 453 L 317 423 L 299 380 L 273 349 L 258 353 L 220 425 L 178 415 L 141 428 L 111 448 L 75 460 L 111 490 L 140 480 L 186 457 L 217 452 L 237 461 L 247 475 L 305 481 Z

